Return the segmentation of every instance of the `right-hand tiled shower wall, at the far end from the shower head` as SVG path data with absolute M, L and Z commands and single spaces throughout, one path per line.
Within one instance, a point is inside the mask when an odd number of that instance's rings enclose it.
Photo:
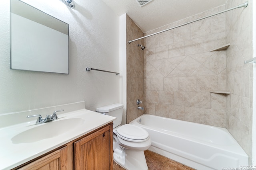
M 226 8 L 244 3 L 244 0 L 228 0 Z M 247 8 L 226 13 L 226 35 L 231 44 L 227 49 L 227 125 L 226 128 L 252 160 L 252 82 L 253 64 L 244 60 L 253 56 L 252 0 Z

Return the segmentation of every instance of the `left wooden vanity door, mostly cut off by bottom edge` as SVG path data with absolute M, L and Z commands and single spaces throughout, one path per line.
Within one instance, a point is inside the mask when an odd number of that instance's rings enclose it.
M 18 170 L 68 170 L 66 168 L 67 147 L 56 150 L 31 162 Z

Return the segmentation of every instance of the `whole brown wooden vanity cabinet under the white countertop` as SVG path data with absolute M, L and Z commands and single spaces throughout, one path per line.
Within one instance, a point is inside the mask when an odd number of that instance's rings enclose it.
M 104 125 L 13 170 L 112 170 L 113 124 Z

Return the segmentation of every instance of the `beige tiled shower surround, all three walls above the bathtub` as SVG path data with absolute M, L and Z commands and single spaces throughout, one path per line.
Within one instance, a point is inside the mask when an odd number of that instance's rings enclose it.
M 149 35 L 242 4 L 226 6 L 152 30 Z M 127 43 L 127 123 L 143 113 L 226 127 L 252 160 L 252 0 L 247 8 Z M 142 37 L 127 16 L 127 40 Z M 137 43 L 144 44 L 143 51 Z M 213 51 L 230 43 L 226 51 Z M 144 62 L 144 65 L 142 64 Z M 141 68 L 144 68 L 144 73 Z M 143 76 L 144 74 L 144 76 Z M 143 82 L 144 77 L 144 82 Z M 144 83 L 144 87 L 142 84 Z M 143 93 L 144 90 L 144 93 Z M 211 93 L 228 91 L 230 94 Z M 138 110 L 137 98 L 144 111 Z

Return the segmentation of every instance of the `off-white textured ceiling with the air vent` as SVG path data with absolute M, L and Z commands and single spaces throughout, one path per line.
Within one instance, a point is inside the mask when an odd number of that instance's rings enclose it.
M 226 4 L 226 0 L 152 0 L 140 7 L 136 0 L 102 1 L 118 16 L 127 13 L 144 33 Z

